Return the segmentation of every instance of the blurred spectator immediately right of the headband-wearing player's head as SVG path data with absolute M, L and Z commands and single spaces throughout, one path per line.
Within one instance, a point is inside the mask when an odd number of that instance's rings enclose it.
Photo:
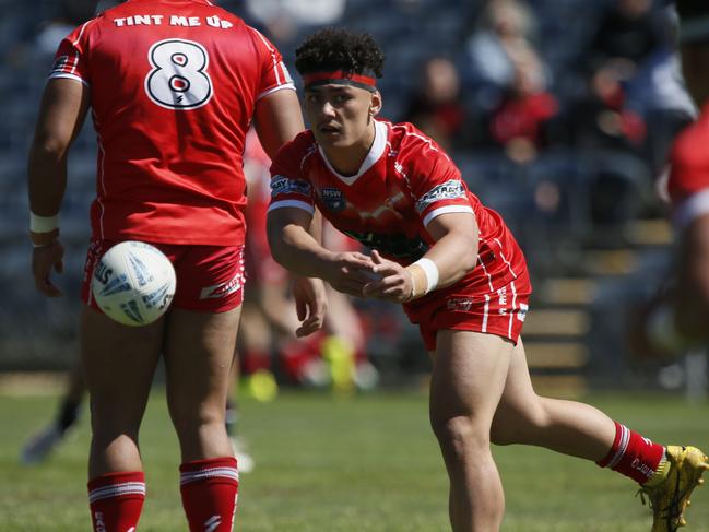
M 460 98 L 458 70 L 450 59 L 435 56 L 424 62 L 418 90 L 402 119 L 412 122 L 444 150 L 465 145 L 465 107 Z

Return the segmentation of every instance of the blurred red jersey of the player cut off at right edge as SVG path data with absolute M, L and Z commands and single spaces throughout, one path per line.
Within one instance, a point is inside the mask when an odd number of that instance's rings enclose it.
M 675 223 L 685 227 L 709 213 L 709 105 L 699 119 L 677 135 L 670 154 L 667 192 Z

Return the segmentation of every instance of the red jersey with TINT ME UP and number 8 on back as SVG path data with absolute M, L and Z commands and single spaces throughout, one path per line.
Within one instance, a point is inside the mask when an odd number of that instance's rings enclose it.
M 50 78 L 91 90 L 94 237 L 244 243 L 241 154 L 256 102 L 294 90 L 260 33 L 206 0 L 129 0 L 72 32 Z

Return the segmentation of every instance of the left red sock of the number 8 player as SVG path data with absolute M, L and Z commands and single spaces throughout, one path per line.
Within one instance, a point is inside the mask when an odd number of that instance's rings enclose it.
M 145 500 L 142 471 L 108 473 L 88 482 L 88 507 L 94 532 L 132 532 Z

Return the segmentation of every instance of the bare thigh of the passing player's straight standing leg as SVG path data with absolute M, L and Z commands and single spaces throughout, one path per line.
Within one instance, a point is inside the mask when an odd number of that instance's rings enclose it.
M 494 334 L 440 330 L 430 382 L 430 417 L 489 426 L 505 387 L 512 343 Z

